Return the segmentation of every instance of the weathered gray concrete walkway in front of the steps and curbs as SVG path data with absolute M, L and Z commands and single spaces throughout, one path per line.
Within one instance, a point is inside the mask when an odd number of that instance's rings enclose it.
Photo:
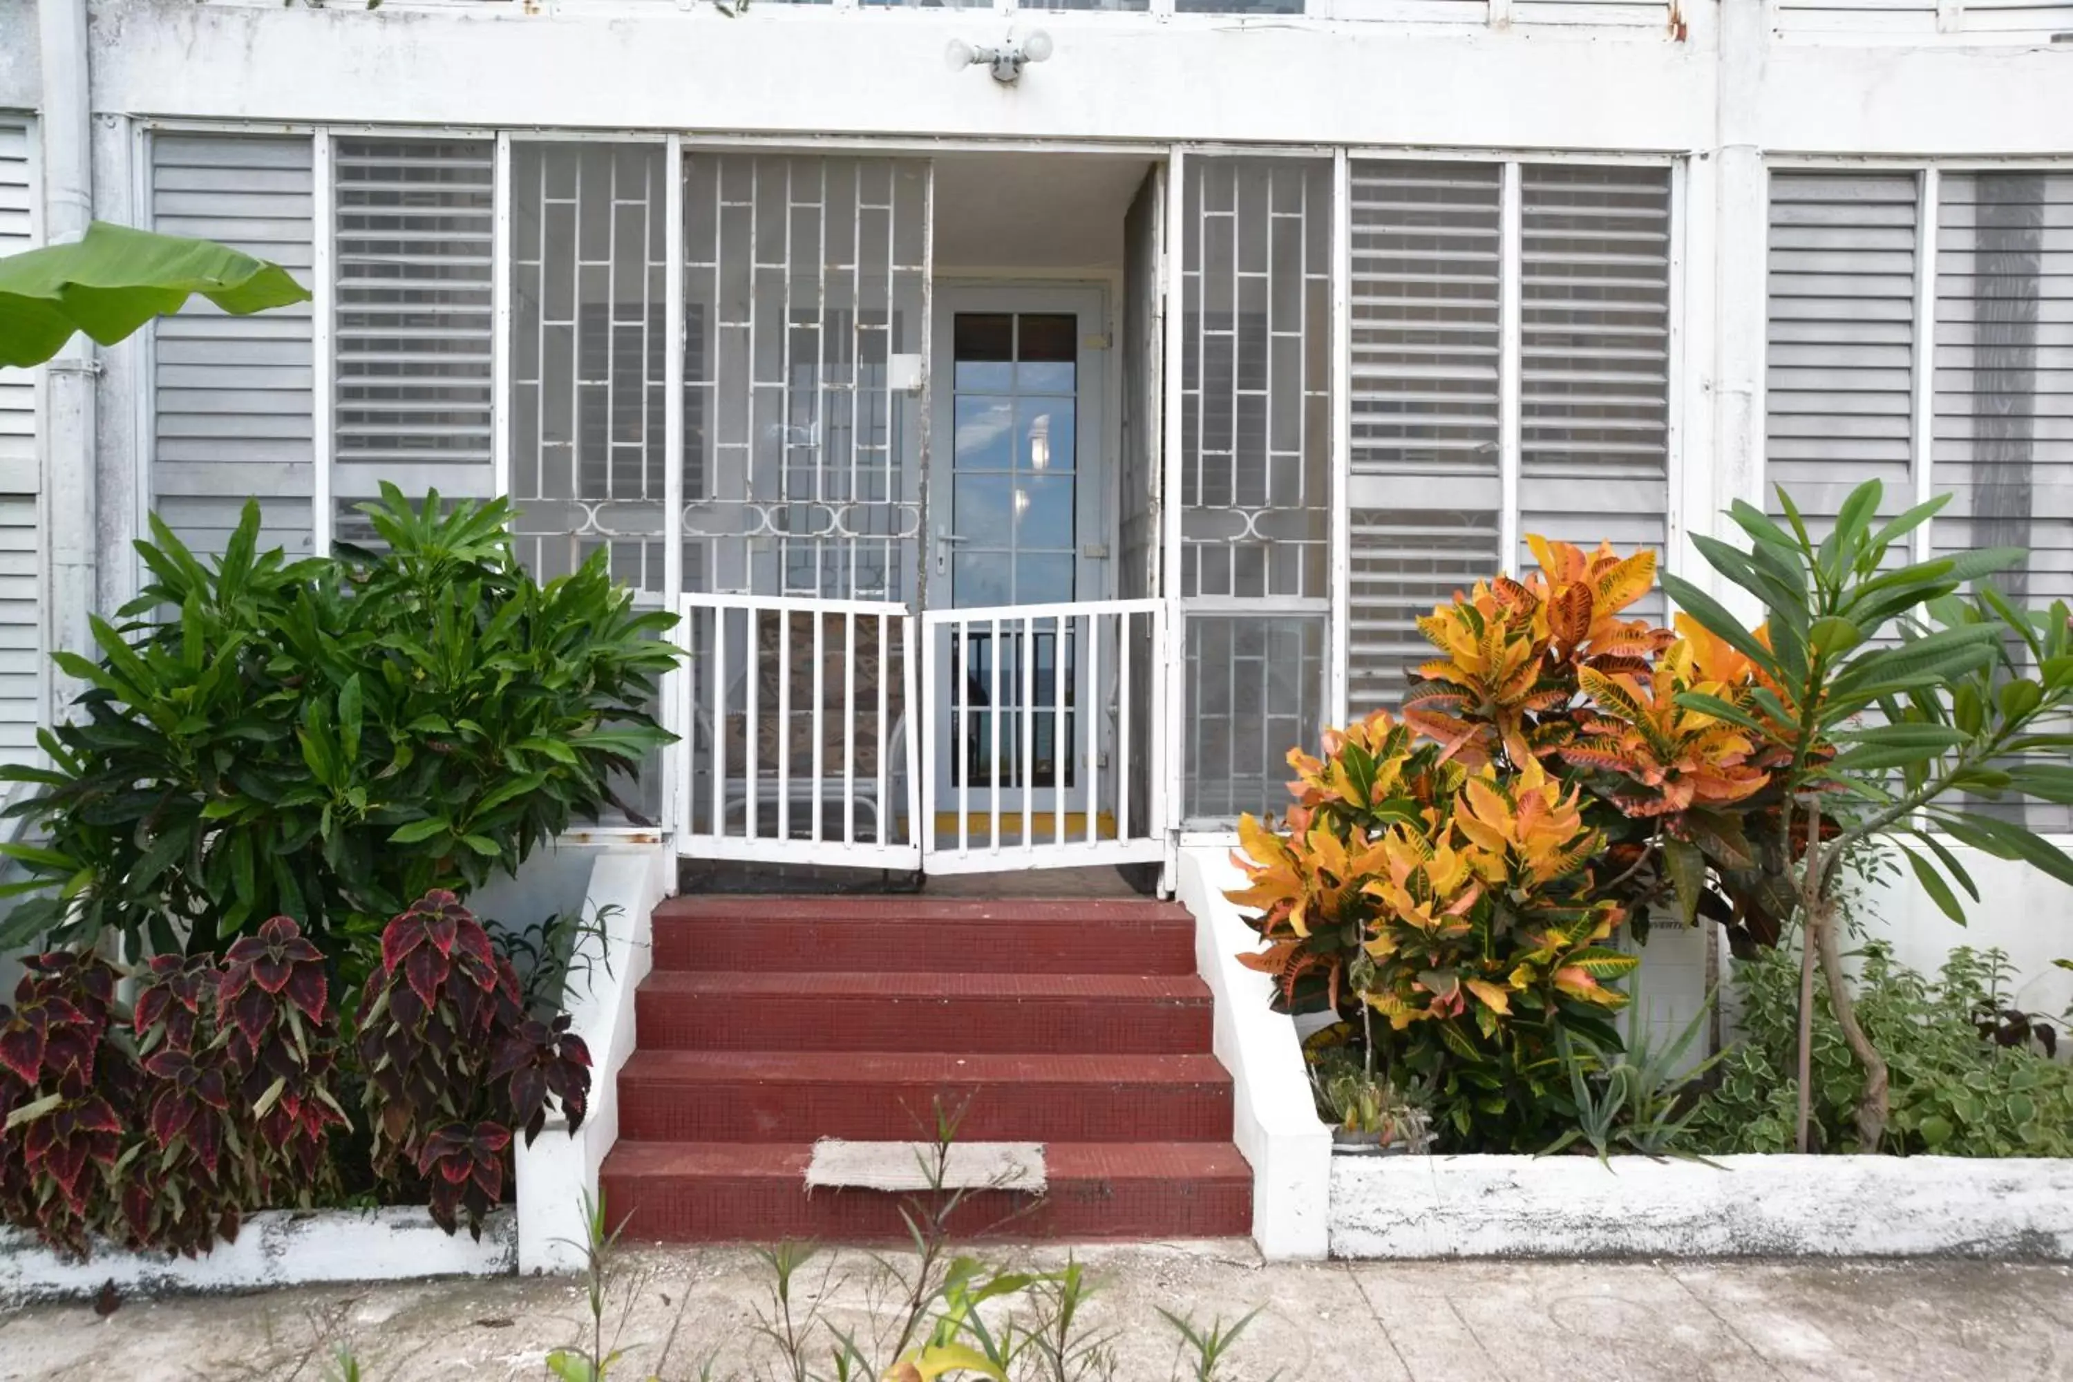
M 1039 1254 L 1036 1262 L 1053 1258 Z M 1173 1330 L 1262 1307 L 1229 1355 L 1229 1382 L 1461 1378 L 2067 1382 L 2073 1268 L 1980 1262 L 1459 1262 L 1262 1266 L 1246 1243 L 1082 1251 L 1103 1280 L 1090 1312 L 1115 1341 L 1115 1378 L 1167 1382 Z M 763 1378 L 767 1272 L 752 1254 L 638 1251 L 620 1260 L 607 1328 L 614 1378 Z M 869 1332 L 883 1285 L 862 1254 L 802 1276 L 831 1318 Z M 883 1312 L 881 1312 L 883 1314 Z M 309 1287 L 249 1297 L 35 1305 L 0 1316 L 0 1378 L 323 1378 L 338 1343 L 379 1382 L 543 1378 L 578 1334 L 574 1280 L 504 1278 Z M 825 1355 L 823 1355 L 825 1357 Z

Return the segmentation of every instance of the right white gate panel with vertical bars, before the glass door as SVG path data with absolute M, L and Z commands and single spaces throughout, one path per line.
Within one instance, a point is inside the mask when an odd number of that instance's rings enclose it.
M 1138 709 L 1161 704 L 1163 622 L 1157 599 L 920 615 L 941 756 L 920 779 L 927 872 L 1165 858 L 1161 738 Z

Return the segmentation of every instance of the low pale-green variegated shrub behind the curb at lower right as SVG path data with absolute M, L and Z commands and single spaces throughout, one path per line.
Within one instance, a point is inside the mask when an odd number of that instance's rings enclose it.
M 1857 1019 L 1891 1069 L 1893 1113 L 1878 1148 L 1857 1142 L 1864 1069 L 1828 995 L 1814 995 L 1812 1123 L 1828 1152 L 1940 1156 L 2073 1156 L 2073 1067 L 2034 1044 L 2003 1046 L 1982 1015 L 2005 1007 L 2000 951 L 1951 951 L 1936 980 L 1889 947 L 1862 951 Z M 1799 955 L 1781 945 L 1737 961 L 1743 1040 L 1721 1059 L 1687 1140 L 1708 1154 L 1791 1152 L 1797 1121 Z

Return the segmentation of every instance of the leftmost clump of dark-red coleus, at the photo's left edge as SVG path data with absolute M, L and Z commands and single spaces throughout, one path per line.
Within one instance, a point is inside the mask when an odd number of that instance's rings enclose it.
M 87 1251 L 100 1233 L 195 1256 L 247 1210 L 336 1185 L 338 1024 L 323 955 L 294 920 L 265 922 L 222 963 L 158 955 L 129 1013 L 116 970 L 68 953 L 27 961 L 0 1005 L 0 1202 L 10 1222 Z

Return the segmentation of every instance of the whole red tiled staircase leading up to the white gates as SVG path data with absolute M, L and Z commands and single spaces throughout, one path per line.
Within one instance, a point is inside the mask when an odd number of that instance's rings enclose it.
M 1049 1191 L 985 1191 L 966 1231 L 1051 1239 L 1252 1229 L 1194 920 L 1138 899 L 678 897 L 655 912 L 620 1073 L 612 1218 L 651 1241 L 902 1237 L 881 1191 L 806 1196 L 817 1138 L 1043 1142 Z

